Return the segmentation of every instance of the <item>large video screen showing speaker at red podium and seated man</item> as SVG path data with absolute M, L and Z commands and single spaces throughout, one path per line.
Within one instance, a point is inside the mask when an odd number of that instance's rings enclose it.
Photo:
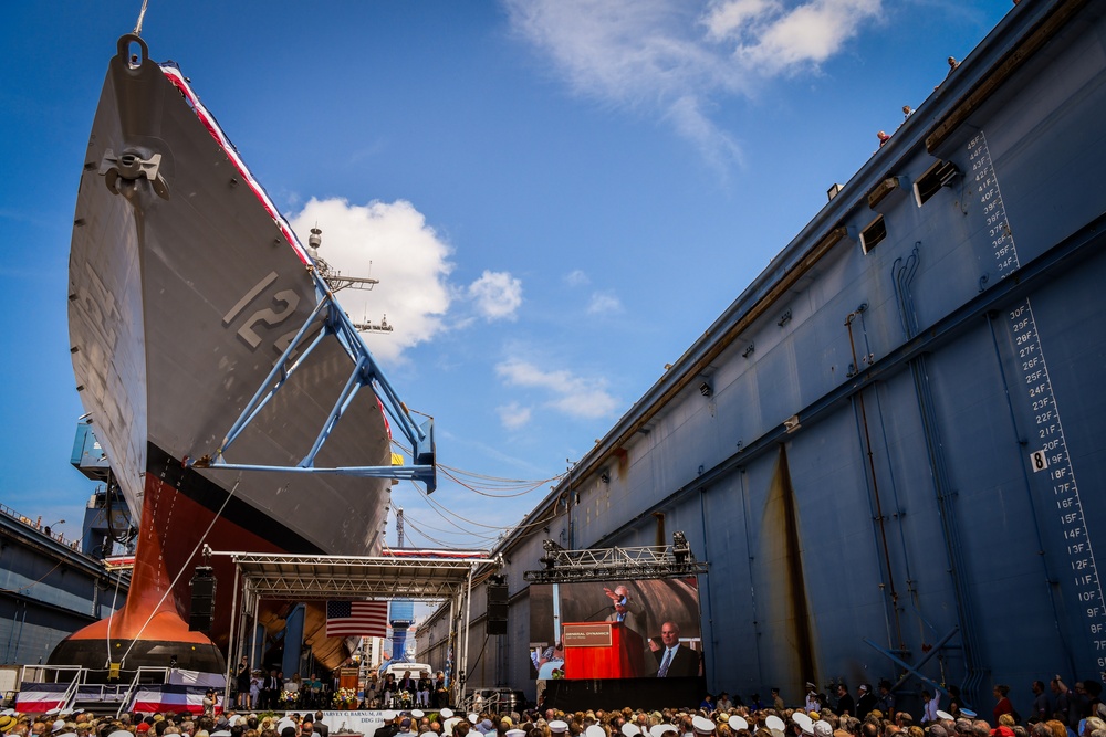
M 698 581 L 532 585 L 530 660 L 539 681 L 700 676 Z

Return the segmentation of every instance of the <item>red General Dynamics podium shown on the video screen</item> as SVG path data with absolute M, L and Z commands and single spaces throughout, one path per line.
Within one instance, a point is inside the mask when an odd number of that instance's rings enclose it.
M 645 675 L 645 641 L 622 622 L 571 622 L 563 630 L 565 678 Z

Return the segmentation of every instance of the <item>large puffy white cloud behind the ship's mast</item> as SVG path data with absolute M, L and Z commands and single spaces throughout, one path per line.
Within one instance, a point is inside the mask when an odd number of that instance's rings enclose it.
M 372 291 L 338 292 L 355 323 L 379 323 L 387 315 L 392 333 L 363 334 L 374 356 L 401 360 L 406 348 L 442 330 L 450 303 L 451 250 L 410 202 L 351 204 L 312 198 L 290 222 L 304 245 L 317 224 L 323 231 L 319 255 L 332 267 L 347 276 L 380 280 Z

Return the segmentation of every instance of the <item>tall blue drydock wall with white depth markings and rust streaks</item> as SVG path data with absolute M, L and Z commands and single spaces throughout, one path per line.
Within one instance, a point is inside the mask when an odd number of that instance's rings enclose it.
M 889 654 L 978 707 L 1012 684 L 1023 714 L 1035 678 L 1102 680 L 1104 12 L 1015 6 L 582 459 L 501 546 L 509 635 L 473 597 L 469 687 L 533 696 L 542 538 L 674 530 L 710 564 L 716 693 L 799 703 L 895 681 Z

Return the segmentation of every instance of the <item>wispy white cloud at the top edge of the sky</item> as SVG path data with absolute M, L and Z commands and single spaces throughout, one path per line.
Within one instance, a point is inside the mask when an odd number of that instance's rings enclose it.
M 712 164 L 738 160 L 708 115 L 718 95 L 816 67 L 881 0 L 504 0 L 512 28 L 574 92 L 646 108 Z

